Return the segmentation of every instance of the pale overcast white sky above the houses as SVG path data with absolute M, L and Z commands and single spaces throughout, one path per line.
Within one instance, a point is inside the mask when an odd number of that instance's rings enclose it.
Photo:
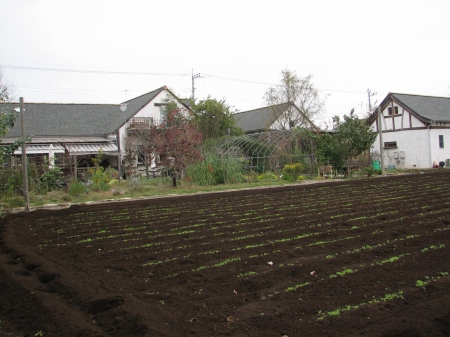
M 388 92 L 450 96 L 449 0 L 0 0 L 0 67 L 26 102 L 120 103 L 157 89 L 264 106 L 313 76 L 323 120 Z M 55 71 L 59 69 L 60 71 Z

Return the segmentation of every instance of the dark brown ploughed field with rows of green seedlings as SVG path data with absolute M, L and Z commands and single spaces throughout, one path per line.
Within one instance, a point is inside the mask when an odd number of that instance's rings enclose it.
M 2 336 L 450 336 L 450 173 L 1 219 Z

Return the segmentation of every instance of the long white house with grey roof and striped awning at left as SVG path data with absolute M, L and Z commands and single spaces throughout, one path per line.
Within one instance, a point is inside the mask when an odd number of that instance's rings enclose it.
M 27 155 L 55 154 L 56 165 L 61 165 L 63 154 L 76 158 L 96 155 L 99 150 L 113 167 L 125 154 L 123 140 L 133 129 L 146 129 L 158 125 L 164 118 L 167 100 L 189 110 L 166 86 L 133 98 L 122 104 L 59 104 L 25 103 Z M 3 103 L 2 111 L 13 111 L 17 103 Z M 20 122 L 16 122 L 1 144 L 12 143 L 21 135 Z M 20 149 L 15 155 L 21 154 Z M 120 155 L 119 155 L 120 154 Z

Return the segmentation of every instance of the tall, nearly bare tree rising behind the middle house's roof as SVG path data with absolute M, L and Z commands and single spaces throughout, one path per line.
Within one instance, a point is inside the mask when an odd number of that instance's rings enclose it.
M 299 77 L 289 69 L 281 71 L 280 84 L 269 88 L 264 100 L 270 106 L 291 102 L 298 108 L 288 105 L 277 119 L 275 126 L 283 130 L 308 125 L 308 120 L 314 121 L 325 110 L 325 97 L 321 97 L 314 87 L 312 76 Z

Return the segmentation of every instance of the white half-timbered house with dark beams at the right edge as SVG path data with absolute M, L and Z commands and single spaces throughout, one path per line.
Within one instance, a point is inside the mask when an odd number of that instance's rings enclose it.
M 450 98 L 390 93 L 380 109 L 385 167 L 450 166 Z M 379 133 L 378 121 L 376 110 L 369 123 Z M 373 148 L 378 154 L 379 138 Z

